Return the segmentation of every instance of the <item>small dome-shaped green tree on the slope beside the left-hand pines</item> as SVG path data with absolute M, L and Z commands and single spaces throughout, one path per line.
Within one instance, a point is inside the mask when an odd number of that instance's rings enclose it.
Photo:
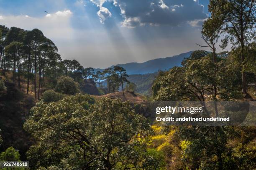
M 71 77 L 62 76 L 59 77 L 55 89 L 66 95 L 75 95 L 79 92 L 79 85 Z

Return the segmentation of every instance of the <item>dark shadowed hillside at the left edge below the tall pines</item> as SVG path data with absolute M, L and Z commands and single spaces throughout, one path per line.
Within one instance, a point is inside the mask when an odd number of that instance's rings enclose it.
M 19 150 L 21 160 L 26 160 L 25 153 L 31 145 L 31 138 L 23 130 L 23 123 L 31 107 L 35 105 L 34 97 L 18 90 L 13 83 L 5 82 L 7 92 L 0 97 L 0 129 L 3 145 L 0 152 L 10 146 Z

